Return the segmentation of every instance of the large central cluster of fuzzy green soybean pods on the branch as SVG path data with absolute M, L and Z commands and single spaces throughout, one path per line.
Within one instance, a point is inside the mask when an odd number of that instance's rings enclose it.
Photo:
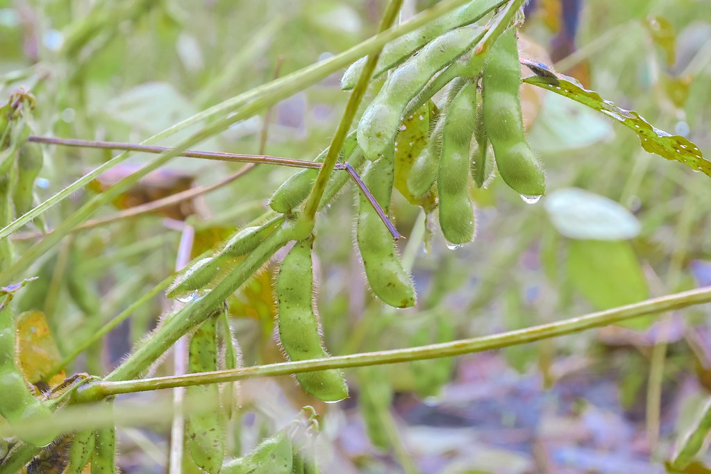
M 389 71 L 390 74 L 340 153 L 353 168 L 364 166 L 363 182 L 387 212 L 395 176 L 395 143 L 403 129 L 402 123 L 426 106 L 436 92 L 444 90 L 443 103 L 436 107 L 439 109 L 436 122 L 427 145 L 410 170 L 407 188 L 415 196 L 427 193 L 437 196 L 439 224 L 451 244 L 464 244 L 474 238 L 474 207 L 469 186 L 485 185 L 496 169 L 503 181 L 520 195 L 533 198 L 545 190 L 542 166 L 523 130 L 515 25 L 499 36 L 488 53 L 474 53 L 474 46 L 486 33 L 485 28 L 475 23 L 504 3 L 500 0 L 471 2 L 388 43 L 373 78 L 377 80 Z M 343 90 L 354 87 L 364 65 L 365 58 L 362 58 L 346 70 L 341 81 Z M 325 156 L 326 151 L 316 157 L 316 161 L 323 161 Z M 289 178 L 269 200 L 270 207 L 281 215 L 264 225 L 237 232 L 213 257 L 199 260 L 178 276 L 169 288 L 169 296 L 190 297 L 214 284 L 215 279 L 220 279 L 220 272 L 230 266 L 230 259 L 252 252 L 299 211 L 317 174 L 316 169 L 306 169 Z M 332 181 L 335 183 L 329 183 L 331 188 L 326 189 L 327 198 L 344 180 L 338 182 L 338 178 L 332 178 Z M 392 236 L 362 194 L 355 234 L 373 293 L 396 308 L 415 306 L 412 279 L 403 269 Z M 313 239 L 311 236 L 294 244 L 282 261 L 275 284 L 279 342 L 289 360 L 328 357 L 314 308 Z M 215 367 L 214 323 L 206 321 L 203 325 L 210 329 L 199 329 L 190 345 L 190 368 L 195 372 Z M 193 359 L 197 360 L 198 354 L 204 353 L 194 342 L 196 338 L 203 341 L 200 344 L 210 345 L 210 357 L 203 361 L 207 365 L 193 365 Z M 306 392 L 325 402 L 348 397 L 348 386 L 340 370 L 306 372 L 296 375 L 296 379 Z M 205 397 L 219 397 L 216 389 L 212 394 L 207 393 L 208 387 L 201 390 L 205 391 Z M 208 418 L 205 416 L 196 425 L 198 435 L 193 436 L 193 443 L 199 441 L 196 451 L 221 446 L 214 438 L 202 436 L 200 440 L 200 433 L 204 434 L 207 426 L 219 423 L 217 419 Z M 191 453 L 195 459 L 196 453 Z M 221 461 L 220 456 L 215 462 Z M 203 460 L 201 467 L 209 466 Z

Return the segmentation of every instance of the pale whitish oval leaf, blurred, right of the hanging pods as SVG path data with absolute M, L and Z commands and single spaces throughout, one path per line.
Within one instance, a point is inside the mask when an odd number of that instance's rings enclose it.
M 637 218 L 614 200 L 579 188 L 553 191 L 543 207 L 558 232 L 570 239 L 632 239 L 641 229 Z

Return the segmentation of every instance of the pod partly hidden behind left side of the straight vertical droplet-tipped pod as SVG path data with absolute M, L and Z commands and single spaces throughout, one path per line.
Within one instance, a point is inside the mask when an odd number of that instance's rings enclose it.
M 442 130 L 444 129 L 445 112 L 456 96 L 456 93 L 459 92 L 464 85 L 464 82 L 466 82 L 466 80 L 462 78 L 456 78 L 451 82 L 451 86 L 447 92 L 447 99 L 445 99 L 444 106 L 439 112 L 439 117 L 437 117 L 437 123 L 434 124 L 432 133 L 429 134 L 427 146 L 419 153 L 419 156 L 415 159 L 415 163 L 412 163 L 410 174 L 407 176 L 407 188 L 413 195 L 422 196 L 427 193 L 437 178 L 439 153 L 442 151 Z

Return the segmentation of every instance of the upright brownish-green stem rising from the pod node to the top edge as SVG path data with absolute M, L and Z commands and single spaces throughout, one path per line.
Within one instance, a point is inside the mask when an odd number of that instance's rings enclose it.
M 378 30 L 380 33 L 387 30 L 387 28 L 390 28 L 390 26 L 395 23 L 395 20 L 397 19 L 397 12 L 400 11 L 400 6 L 402 6 L 402 0 L 390 0 L 387 4 L 385 14 L 383 14 L 383 20 L 380 21 L 380 28 Z M 319 210 L 319 204 L 321 203 L 321 197 L 324 195 L 324 191 L 326 190 L 328 178 L 331 178 L 333 167 L 336 166 L 336 161 L 338 161 L 338 154 L 341 153 L 341 148 L 343 148 L 343 141 L 346 140 L 348 130 L 351 129 L 351 123 L 353 123 L 353 117 L 355 117 L 355 113 L 358 112 L 358 107 L 360 106 L 360 102 L 363 100 L 365 90 L 368 89 L 368 83 L 370 82 L 370 77 L 373 76 L 375 65 L 378 64 L 378 58 L 380 58 L 381 50 L 383 50 L 382 46 L 368 55 L 368 60 L 365 61 L 365 67 L 363 68 L 363 71 L 360 72 L 358 82 L 356 82 L 355 87 L 353 87 L 351 97 L 348 97 L 346 111 L 343 112 L 341 122 L 338 123 L 338 128 L 336 129 L 336 134 L 333 135 L 333 140 L 331 140 L 331 146 L 328 147 L 328 153 L 326 153 L 326 158 L 324 158 L 324 164 L 321 166 L 319 176 L 316 176 L 314 188 L 311 189 L 311 194 L 306 200 L 302 218 L 304 218 L 306 222 L 309 222 L 312 230 L 314 228 L 316 212 Z M 383 217 L 381 217 L 381 219 L 382 218 Z M 385 220 L 389 222 L 387 218 Z M 388 227 L 388 230 L 390 230 L 390 227 Z M 392 230 L 390 230 L 390 233 L 392 234 Z M 392 234 L 393 238 L 397 238 L 395 235 L 397 235 L 397 230 L 395 231 L 395 234 Z

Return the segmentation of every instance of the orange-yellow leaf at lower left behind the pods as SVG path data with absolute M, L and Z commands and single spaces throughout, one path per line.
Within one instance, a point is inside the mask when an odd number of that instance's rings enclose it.
M 40 382 L 62 358 L 42 311 L 26 311 L 17 320 L 17 359 L 25 378 L 31 384 Z M 65 372 L 46 382 L 56 387 L 65 379 Z

